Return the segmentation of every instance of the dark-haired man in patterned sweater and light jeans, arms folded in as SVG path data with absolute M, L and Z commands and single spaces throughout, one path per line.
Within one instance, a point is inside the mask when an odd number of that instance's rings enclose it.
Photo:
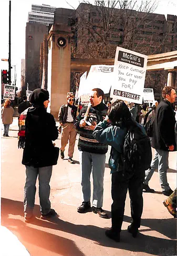
M 108 151 L 108 145 L 98 143 L 93 138 L 93 129 L 99 121 L 107 115 L 108 108 L 103 103 L 105 94 L 99 88 L 92 89 L 90 94 L 91 107 L 80 110 L 75 122 L 75 128 L 79 132 L 79 154 L 81 168 L 81 186 L 84 201 L 77 208 L 79 213 L 85 213 L 90 210 L 90 174 L 93 176 L 93 198 L 92 212 L 98 213 L 100 217 L 108 218 L 108 214 L 102 209 L 103 204 L 103 179 L 105 174 L 105 159 Z M 88 114 L 88 115 L 87 115 Z M 87 120 L 85 119 L 87 116 Z

